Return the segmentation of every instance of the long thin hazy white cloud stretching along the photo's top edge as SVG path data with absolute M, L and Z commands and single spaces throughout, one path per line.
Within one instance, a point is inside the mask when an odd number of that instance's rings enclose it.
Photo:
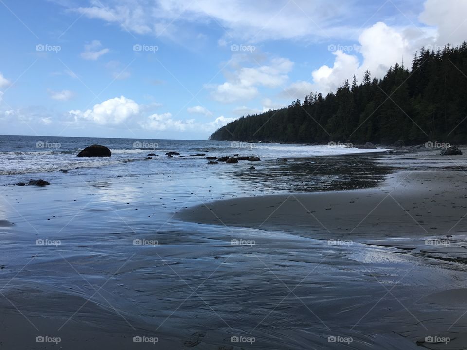
M 171 36 L 188 25 L 216 21 L 225 28 L 225 38 L 261 41 L 269 39 L 328 38 L 350 35 L 346 23 L 351 17 L 347 0 L 126 0 L 97 2 L 91 7 L 72 9 L 88 18 L 101 19 L 120 25 L 123 30 L 138 34 L 152 33 Z M 370 7 L 369 11 L 375 6 Z M 377 7 L 374 11 L 377 10 Z M 361 15 L 365 16 L 364 9 Z M 293 25 L 291 25 L 293 23 Z M 355 31 L 355 29 L 354 29 Z M 196 33 L 194 32 L 194 35 Z

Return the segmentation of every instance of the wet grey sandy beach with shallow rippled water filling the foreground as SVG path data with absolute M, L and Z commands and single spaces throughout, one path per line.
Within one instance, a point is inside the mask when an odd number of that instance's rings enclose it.
M 466 159 L 428 156 L 6 188 L 0 348 L 465 349 Z

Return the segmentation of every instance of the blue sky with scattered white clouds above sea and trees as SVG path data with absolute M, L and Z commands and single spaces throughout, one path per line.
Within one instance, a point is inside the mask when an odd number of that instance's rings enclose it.
M 2 134 L 206 139 L 466 39 L 462 0 L 1 0 Z

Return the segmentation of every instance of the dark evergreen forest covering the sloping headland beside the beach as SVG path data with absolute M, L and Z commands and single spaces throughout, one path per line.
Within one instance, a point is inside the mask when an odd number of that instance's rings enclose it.
M 311 93 L 287 108 L 248 115 L 210 140 L 408 144 L 466 143 L 467 44 L 437 52 L 422 48 L 412 67 L 395 64 L 384 78 L 367 70 L 336 93 Z

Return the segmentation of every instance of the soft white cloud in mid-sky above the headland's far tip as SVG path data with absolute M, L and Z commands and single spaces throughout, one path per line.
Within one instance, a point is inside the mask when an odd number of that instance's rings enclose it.
M 258 87 L 276 88 L 285 84 L 292 67 L 293 62 L 287 58 L 273 58 L 268 65 L 240 67 L 229 74 L 225 83 L 208 88 L 213 90 L 211 96 L 218 102 L 251 100 L 258 96 Z

